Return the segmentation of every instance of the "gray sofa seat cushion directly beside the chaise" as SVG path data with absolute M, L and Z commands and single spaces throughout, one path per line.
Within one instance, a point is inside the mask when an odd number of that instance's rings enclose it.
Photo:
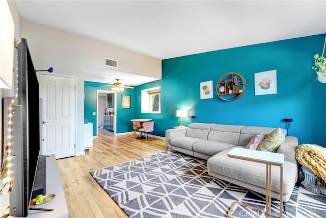
M 234 147 L 234 144 L 219 141 L 197 141 L 193 144 L 195 152 L 213 156 L 227 148 Z

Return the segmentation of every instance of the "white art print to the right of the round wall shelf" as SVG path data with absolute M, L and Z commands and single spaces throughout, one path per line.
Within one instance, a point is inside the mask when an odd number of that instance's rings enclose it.
M 255 74 L 255 95 L 277 94 L 276 69 Z

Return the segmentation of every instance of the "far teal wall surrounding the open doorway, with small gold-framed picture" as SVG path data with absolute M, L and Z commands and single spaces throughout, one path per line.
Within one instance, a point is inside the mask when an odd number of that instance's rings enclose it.
M 96 116 L 93 112 L 96 111 L 97 90 L 111 91 L 110 86 L 103 86 L 105 83 L 84 82 L 85 98 L 84 98 L 84 119 L 88 119 L 93 123 L 93 136 L 96 136 Z M 115 109 L 117 118 L 116 133 L 124 133 L 132 131 L 130 119 L 135 118 L 135 94 L 134 89 L 124 89 L 117 93 L 117 108 Z M 131 108 L 121 108 L 121 94 L 130 95 Z

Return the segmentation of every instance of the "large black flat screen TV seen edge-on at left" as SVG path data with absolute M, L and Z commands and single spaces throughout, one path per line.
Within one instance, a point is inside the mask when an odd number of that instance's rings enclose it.
M 40 153 L 39 82 L 26 39 L 18 44 L 17 93 L 12 115 L 9 214 L 28 216 Z

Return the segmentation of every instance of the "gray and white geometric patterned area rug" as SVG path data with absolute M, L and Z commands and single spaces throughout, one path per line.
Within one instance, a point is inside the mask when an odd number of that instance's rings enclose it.
M 167 151 L 90 172 L 130 217 L 226 217 L 240 201 L 265 208 L 265 196 L 220 179 L 208 179 L 206 160 Z M 272 199 L 272 213 L 280 202 Z M 326 217 L 326 198 L 295 185 L 283 217 Z M 238 207 L 235 217 L 264 217 Z

